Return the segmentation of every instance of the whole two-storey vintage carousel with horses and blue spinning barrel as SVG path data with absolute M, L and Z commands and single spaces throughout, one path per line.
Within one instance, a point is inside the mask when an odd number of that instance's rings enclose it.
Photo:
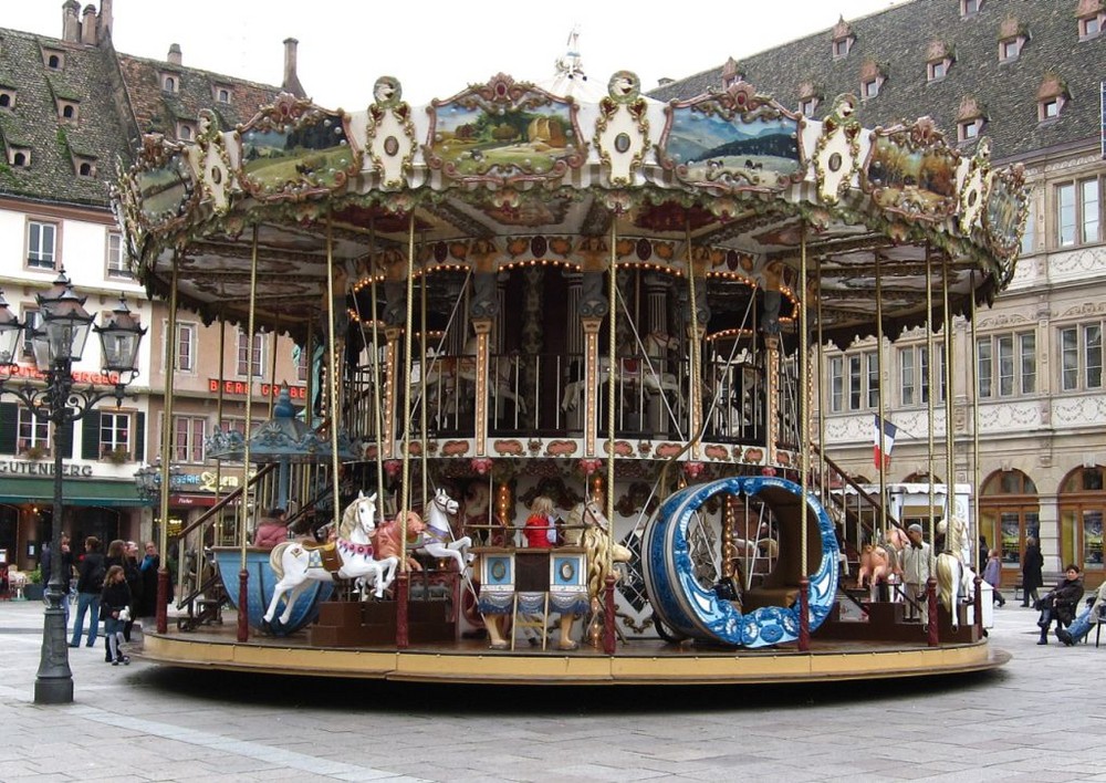
M 1000 666 L 961 515 L 920 592 L 876 566 L 901 526 L 823 448 L 818 378 L 827 346 L 932 348 L 1003 289 L 1020 169 L 928 118 L 863 128 L 849 95 L 816 122 L 735 80 L 659 103 L 573 75 L 420 107 L 385 76 L 363 112 L 282 95 L 144 139 L 117 205 L 169 328 L 284 334 L 310 372 L 211 438 L 242 489 L 163 532 L 195 567 L 143 655 L 509 683 Z M 291 533 L 253 547 L 268 508 Z

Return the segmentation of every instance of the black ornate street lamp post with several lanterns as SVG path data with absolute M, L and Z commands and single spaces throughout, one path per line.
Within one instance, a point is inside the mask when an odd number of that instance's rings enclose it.
M 42 655 L 34 680 L 34 701 L 39 704 L 73 701 L 73 672 L 69 665 L 65 609 L 62 606 L 69 585 L 63 582 L 60 567 L 64 501 L 62 452 L 67 446 L 63 442 L 67 436 L 67 425 L 84 418 L 97 403 L 107 397 L 115 397 L 116 406 L 123 404 L 126 386 L 138 375 L 138 346 L 146 333 L 122 299 L 107 324 L 95 326 L 94 317 L 84 309 L 85 299 L 74 293 L 63 269 L 49 292 L 35 295 L 42 323 L 40 327 L 33 328 L 19 322 L 0 292 L 0 395 L 14 395 L 36 418 L 53 425 L 51 567 L 46 585 Z M 30 330 L 35 365 L 40 370 L 45 368 L 45 386 L 31 383 L 19 387 L 7 385 L 15 366 L 24 330 Z M 100 337 L 104 374 L 115 382 L 114 387 L 108 390 L 91 386 L 76 388 L 73 385 L 73 363 L 81 361 L 90 331 L 95 331 Z

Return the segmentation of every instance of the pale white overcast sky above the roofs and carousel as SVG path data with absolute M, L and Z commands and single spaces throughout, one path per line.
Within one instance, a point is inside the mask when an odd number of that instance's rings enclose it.
M 82 1 L 82 8 L 90 0 Z M 907 0 L 898 0 L 904 2 Z M 61 38 L 62 0 L 2 0 L 0 27 Z M 98 8 L 98 0 L 95 0 Z M 285 38 L 299 45 L 299 75 L 327 108 L 364 108 L 380 75 L 404 97 L 447 98 L 504 72 L 543 82 L 580 30 L 584 72 L 601 93 L 611 74 L 634 71 L 645 90 L 894 4 L 890 0 L 665 3 L 380 2 L 379 0 L 115 0 L 121 52 L 164 60 L 180 44 L 185 65 L 280 84 Z M 650 10 L 661 9 L 661 12 Z M 721 9 L 727 9 L 722 11 Z M 828 46 L 828 42 L 826 44 Z M 828 51 L 828 50 L 827 50 Z

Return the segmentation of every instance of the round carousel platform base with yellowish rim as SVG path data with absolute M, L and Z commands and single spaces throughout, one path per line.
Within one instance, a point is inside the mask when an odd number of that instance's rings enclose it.
M 811 639 L 770 649 L 710 648 L 657 640 L 619 643 L 605 655 L 581 645 L 561 651 L 525 648 L 499 651 L 483 639 L 394 647 L 320 647 L 304 633 L 252 636 L 238 643 L 233 612 L 222 626 L 196 631 L 145 634 L 140 657 L 194 669 L 218 669 L 303 677 L 340 677 L 413 682 L 599 686 L 599 685 L 768 685 L 825 680 L 929 677 L 994 669 L 1010 654 L 987 639 L 929 647 L 918 643 Z M 920 628 L 919 628 L 920 637 Z

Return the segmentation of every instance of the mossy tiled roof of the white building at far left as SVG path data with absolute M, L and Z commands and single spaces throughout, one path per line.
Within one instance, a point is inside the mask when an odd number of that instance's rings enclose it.
M 42 48 L 64 53 L 62 70 Z M 0 82 L 15 91 L 0 108 L 0 195 L 106 208 L 116 157 L 129 158 L 127 134 L 112 101 L 111 53 L 15 30 L 0 30 Z M 76 102 L 77 118 L 59 117 L 58 98 Z M 30 148 L 31 165 L 8 165 L 7 148 Z M 95 176 L 79 177 L 73 155 L 94 158 Z

